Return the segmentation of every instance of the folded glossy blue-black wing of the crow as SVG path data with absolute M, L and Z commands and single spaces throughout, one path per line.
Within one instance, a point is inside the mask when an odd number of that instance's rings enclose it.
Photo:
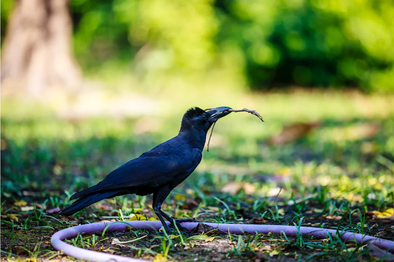
M 133 187 L 158 188 L 169 183 L 183 181 L 201 161 L 202 152 L 184 144 L 172 144 L 154 148 L 109 173 L 95 186 L 74 194 L 70 199 L 100 191 L 120 190 Z M 180 183 L 180 182 L 179 182 Z

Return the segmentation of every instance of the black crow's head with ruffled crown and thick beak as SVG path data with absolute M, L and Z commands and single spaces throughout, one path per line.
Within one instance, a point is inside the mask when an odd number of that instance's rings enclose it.
M 196 131 L 203 130 L 206 133 L 216 120 L 230 114 L 227 111 L 229 109 L 231 108 L 216 107 L 209 111 L 204 111 L 199 107 L 192 107 L 183 115 L 180 131 L 195 129 Z

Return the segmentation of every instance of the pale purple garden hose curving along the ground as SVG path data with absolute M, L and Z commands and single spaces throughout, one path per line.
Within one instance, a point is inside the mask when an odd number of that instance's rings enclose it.
M 169 223 L 169 222 L 167 222 Z M 183 227 L 186 227 L 188 230 L 195 228 L 199 223 L 195 222 L 185 222 L 182 223 Z M 336 234 L 336 230 L 334 229 L 321 229 L 316 227 L 295 227 L 295 226 L 286 226 L 286 225 L 255 225 L 255 224 L 219 224 L 219 223 L 204 223 L 206 225 L 210 225 L 212 227 L 218 228 L 221 231 L 229 232 L 233 234 L 242 234 L 242 233 L 252 233 L 255 232 L 268 234 L 268 232 L 272 232 L 273 234 L 281 234 L 284 232 L 287 236 L 294 236 L 296 234 L 307 234 L 309 236 L 316 236 L 320 238 L 327 237 L 327 234 Z M 137 258 L 128 258 L 126 256 L 119 255 L 111 255 L 103 252 L 96 252 L 91 250 L 82 249 L 79 247 L 75 247 L 70 244 L 66 244 L 62 240 L 66 238 L 72 238 L 81 234 L 94 233 L 94 232 L 102 232 L 107 225 L 109 231 L 124 231 L 126 226 L 131 226 L 139 229 L 151 229 L 158 230 L 162 227 L 162 223 L 160 221 L 124 221 L 124 222 L 112 222 L 110 224 L 101 222 L 101 223 L 91 223 L 86 225 L 78 225 L 75 227 L 69 227 L 67 229 L 63 229 L 61 231 L 56 232 L 51 238 L 52 246 L 59 251 L 63 251 L 64 254 L 73 256 L 74 258 L 89 260 L 89 261 L 98 261 L 98 262 L 146 262 L 147 260 L 137 259 Z M 394 251 L 394 241 L 384 240 L 381 238 L 376 238 L 373 236 L 367 236 L 363 234 L 353 233 L 353 232 L 342 232 L 341 239 L 343 241 L 353 241 L 359 244 L 373 244 L 375 246 L 380 247 L 384 251 Z M 383 251 L 382 250 L 382 251 Z M 385 255 L 385 252 L 381 252 L 381 255 Z M 383 256 L 382 255 L 382 256 Z M 387 253 L 390 255 L 390 253 Z

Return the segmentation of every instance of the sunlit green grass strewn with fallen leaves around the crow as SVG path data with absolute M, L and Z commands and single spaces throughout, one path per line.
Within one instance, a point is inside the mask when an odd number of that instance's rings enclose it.
M 175 136 L 183 111 L 192 105 L 256 109 L 266 122 L 246 113 L 221 119 L 210 151 L 204 151 L 197 170 L 167 198 L 166 212 L 207 222 L 309 225 L 393 238 L 392 217 L 378 218 L 371 212 L 394 204 L 392 97 L 296 92 L 229 94 L 214 101 L 196 95 L 180 99 L 177 105 L 155 99 L 165 110 L 129 118 L 61 119 L 50 110 L 20 113 L 11 110 L 14 102 L 2 103 L 0 251 L 4 256 L 61 258 L 45 243 L 53 232 L 70 224 L 122 221 L 130 214 L 154 217 L 150 196 L 101 201 L 67 219 L 47 210 L 67 205 L 73 192 L 94 185 L 117 166 Z M 285 125 L 310 121 L 320 125 L 306 136 L 281 146 L 267 143 Z M 371 129 L 377 132 L 371 134 Z M 136 241 L 112 245 L 113 238 Z M 194 257 L 200 257 L 198 261 L 374 260 L 365 247 L 336 237 L 132 231 L 67 241 L 150 260 L 158 254 L 174 261 Z

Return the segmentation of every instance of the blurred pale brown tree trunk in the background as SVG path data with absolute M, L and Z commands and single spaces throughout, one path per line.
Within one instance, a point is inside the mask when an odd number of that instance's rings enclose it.
M 54 85 L 78 87 L 68 6 L 68 0 L 17 0 L 2 48 L 0 83 L 24 83 L 33 96 Z

